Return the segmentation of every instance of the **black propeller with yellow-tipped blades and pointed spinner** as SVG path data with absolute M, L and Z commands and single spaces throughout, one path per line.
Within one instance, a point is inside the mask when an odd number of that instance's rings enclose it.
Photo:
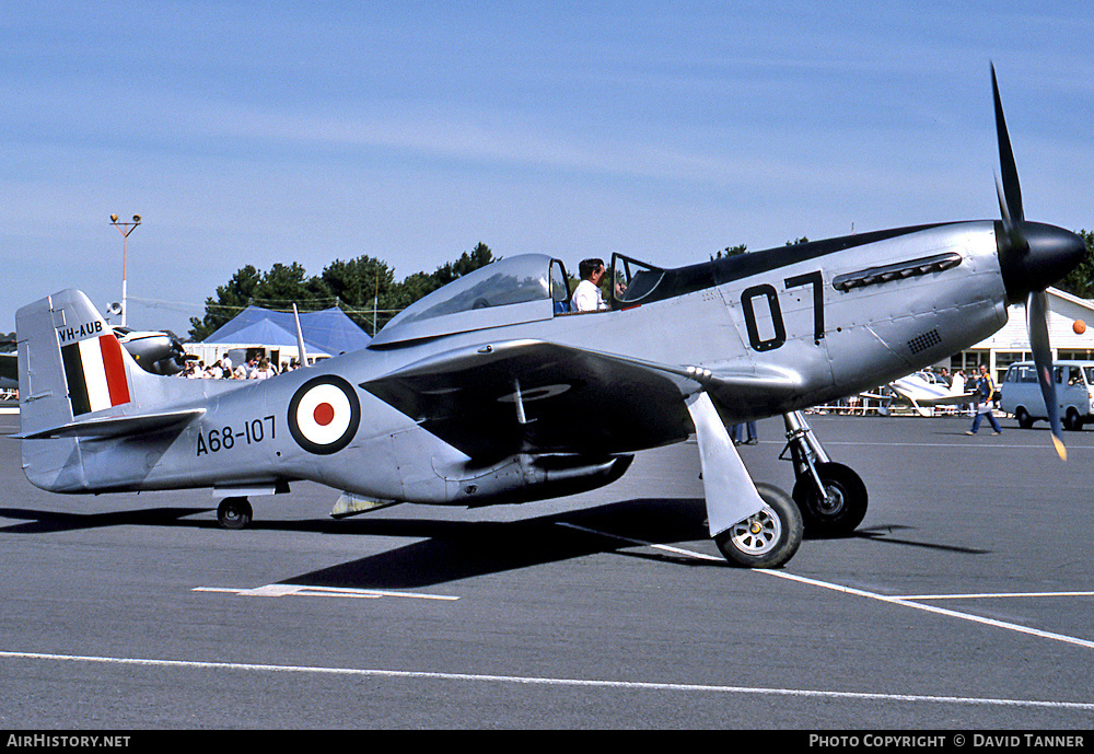
M 1052 347 L 1048 340 L 1048 295 L 1045 289 L 1074 269 L 1086 256 L 1085 242 L 1074 233 L 1026 222 L 1022 209 L 1022 186 L 1014 165 L 1014 152 L 1006 134 L 1003 118 L 1003 103 L 999 97 L 996 67 L 991 67 L 991 89 L 996 97 L 996 132 L 999 137 L 1000 177 L 996 181 L 999 194 L 999 211 L 1002 214 L 1001 231 L 997 232 L 999 267 L 1006 287 L 1006 298 L 1011 303 L 1025 301 L 1026 327 L 1029 330 L 1029 347 L 1037 366 L 1037 382 L 1048 421 L 1052 427 L 1052 443 L 1061 459 L 1067 460 L 1060 427 L 1060 407 L 1056 401 L 1056 380 L 1052 379 Z

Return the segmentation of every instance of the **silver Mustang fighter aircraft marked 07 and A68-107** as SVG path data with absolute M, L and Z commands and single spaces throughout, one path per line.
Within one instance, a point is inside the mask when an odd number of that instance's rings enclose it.
M 1045 288 L 1085 255 L 1027 222 L 992 71 L 1002 219 L 863 233 L 662 269 L 616 255 L 609 311 L 569 312 L 560 260 L 517 256 L 421 299 L 363 350 L 258 382 L 139 369 L 83 293 L 16 315 L 23 467 L 58 492 L 212 487 L 228 526 L 247 497 L 310 479 L 380 502 L 459 506 L 570 495 L 633 453 L 696 436 L 710 535 L 776 567 L 803 527 L 853 530 L 865 486 L 800 409 L 975 344 L 1026 301 L 1054 382 Z M 794 497 L 755 484 L 726 422 L 783 415 Z M 1059 417 L 1054 441 L 1063 454 Z

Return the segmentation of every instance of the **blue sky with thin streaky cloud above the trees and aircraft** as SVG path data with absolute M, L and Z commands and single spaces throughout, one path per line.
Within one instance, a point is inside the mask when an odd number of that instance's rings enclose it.
M 833 5 L 833 8 L 829 8 Z M 998 214 L 1094 229 L 1089 2 L 24 2 L 0 330 L 63 288 L 188 328 L 238 268 L 571 266 Z

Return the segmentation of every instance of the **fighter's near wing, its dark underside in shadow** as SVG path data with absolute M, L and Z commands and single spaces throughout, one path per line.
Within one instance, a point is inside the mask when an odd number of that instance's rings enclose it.
M 747 392 L 761 381 L 743 375 Z M 515 452 L 624 453 L 687 439 L 684 398 L 725 375 L 540 340 L 439 353 L 361 387 L 474 459 Z

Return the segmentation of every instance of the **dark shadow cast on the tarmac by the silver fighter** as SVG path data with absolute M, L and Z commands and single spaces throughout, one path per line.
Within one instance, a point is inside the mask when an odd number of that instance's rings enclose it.
M 148 508 L 79 514 L 0 508 L 0 517 L 22 520 L 21 523 L 0 526 L 0 532 L 47 534 L 118 525 L 219 529 L 216 520 L 186 518 L 208 511 L 208 508 Z M 260 519 L 252 523 L 252 529 L 258 533 L 288 531 L 419 538 L 419 542 L 385 553 L 303 573 L 281 582 L 353 589 L 412 589 L 600 553 L 616 553 L 689 567 L 730 568 L 728 562 L 702 560 L 640 546 L 640 543 L 709 543 L 705 519 L 706 504 L 699 498 L 640 498 L 514 522 L 394 518 L 342 521 Z M 843 538 L 969 555 L 988 552 L 891 536 L 895 531 L 913 529 L 900 525 L 872 526 L 860 529 Z M 235 536 L 238 533 L 225 531 L 224 535 Z M 707 546 L 706 550 L 710 555 L 717 555 L 712 546 Z

